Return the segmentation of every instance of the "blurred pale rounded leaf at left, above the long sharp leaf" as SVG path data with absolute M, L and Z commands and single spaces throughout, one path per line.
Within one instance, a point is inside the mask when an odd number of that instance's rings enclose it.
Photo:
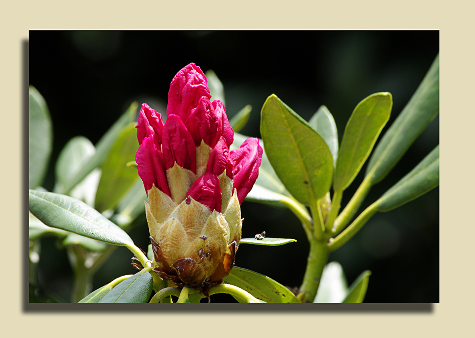
M 96 148 L 92 142 L 83 136 L 76 136 L 69 140 L 56 161 L 54 192 L 60 191 L 68 185 L 83 165 L 94 156 L 95 152 Z

